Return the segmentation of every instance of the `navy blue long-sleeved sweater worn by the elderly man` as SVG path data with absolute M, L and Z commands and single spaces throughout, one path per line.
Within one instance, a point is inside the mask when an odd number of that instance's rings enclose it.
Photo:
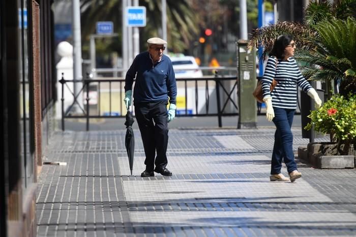
M 176 104 L 177 86 L 172 62 L 166 55 L 162 55 L 159 62 L 153 64 L 150 53 L 138 54 L 125 78 L 125 91 L 133 90 L 134 103 L 168 101 Z

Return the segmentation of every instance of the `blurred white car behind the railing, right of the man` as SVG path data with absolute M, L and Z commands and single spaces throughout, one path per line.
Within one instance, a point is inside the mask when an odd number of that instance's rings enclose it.
M 203 73 L 199 69 L 193 56 L 170 57 L 173 64 L 175 78 L 200 78 Z

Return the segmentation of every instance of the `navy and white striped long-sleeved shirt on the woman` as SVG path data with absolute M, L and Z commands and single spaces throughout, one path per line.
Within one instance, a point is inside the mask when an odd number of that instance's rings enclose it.
M 293 57 L 287 61 L 278 59 L 276 69 L 276 57 L 270 57 L 262 77 L 263 98 L 272 96 L 272 105 L 277 108 L 296 109 L 297 85 L 307 92 L 312 87 L 303 77 Z M 278 84 L 270 92 L 271 83 L 275 79 Z

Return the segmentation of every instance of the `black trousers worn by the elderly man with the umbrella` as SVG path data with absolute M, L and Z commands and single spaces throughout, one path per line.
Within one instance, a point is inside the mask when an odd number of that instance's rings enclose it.
M 147 171 L 153 171 L 154 165 L 157 168 L 165 168 L 168 163 L 167 104 L 167 101 L 135 104 L 135 116 L 141 132 Z

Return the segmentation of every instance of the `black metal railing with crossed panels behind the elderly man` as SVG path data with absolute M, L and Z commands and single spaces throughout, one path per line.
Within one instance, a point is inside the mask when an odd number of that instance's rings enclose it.
M 119 118 L 125 117 L 123 113 L 113 113 L 112 111 L 112 84 L 117 84 L 115 88 L 118 88 L 119 96 L 118 101 L 114 103 L 119 103 L 120 111 L 126 111 L 125 105 L 123 105 L 123 93 L 124 93 L 124 79 L 87 79 L 84 80 L 65 80 L 64 75 L 62 74 L 62 79 L 59 81 L 62 85 L 62 129 L 65 130 L 65 119 L 67 118 L 85 118 L 86 119 L 86 130 L 89 130 L 89 124 L 91 118 Z M 225 83 L 226 82 L 226 83 Z M 69 83 L 82 84 L 80 90 L 74 94 L 73 90 L 68 85 Z M 194 116 L 217 116 L 219 127 L 222 127 L 222 116 L 235 116 L 239 115 L 239 109 L 236 105 L 232 95 L 237 96 L 238 92 L 238 79 L 236 76 L 222 77 L 219 76 L 218 72 L 215 73 L 215 76 L 204 77 L 204 78 L 180 78 L 177 79 L 177 87 L 182 88 L 181 84 L 184 84 L 184 95 L 185 95 L 185 109 L 176 114 L 176 117 L 194 117 Z M 233 83 L 233 84 L 232 84 Z M 109 112 L 102 115 L 101 103 L 102 103 L 102 86 L 106 85 L 106 90 L 108 90 L 109 96 Z M 193 85 L 192 85 L 193 84 Z M 199 90 L 201 90 L 201 85 L 203 84 L 205 98 L 203 105 L 199 108 Z M 98 108 L 91 112 L 90 104 L 91 99 L 90 92 L 92 91 L 93 85 L 96 86 L 95 91 L 97 91 L 97 105 Z M 73 102 L 68 108 L 65 108 L 65 88 L 73 96 Z M 188 96 L 188 88 L 194 90 L 195 96 Z M 79 88 L 78 88 L 79 89 Z M 83 93 L 84 92 L 84 93 Z M 216 98 L 212 98 L 211 94 L 216 93 Z M 79 95 L 84 94 L 83 100 L 85 105 L 82 105 L 78 101 Z M 194 100 L 195 108 L 194 110 L 188 111 L 188 98 Z M 216 110 L 212 111 L 212 101 L 216 101 Z M 223 104 L 223 106 L 221 106 Z M 230 105 L 232 112 L 225 112 L 227 105 Z M 76 111 L 73 111 L 73 108 L 76 108 Z M 93 114 L 91 114 L 93 113 Z

